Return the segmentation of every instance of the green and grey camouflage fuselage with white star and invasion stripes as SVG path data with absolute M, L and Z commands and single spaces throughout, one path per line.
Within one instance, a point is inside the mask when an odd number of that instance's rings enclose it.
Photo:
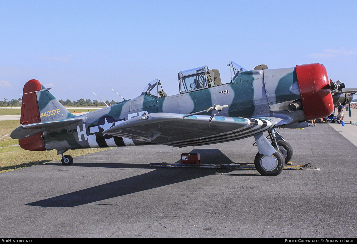
M 48 91 L 42 92 L 49 93 Z M 54 101 L 52 104 L 52 101 L 45 101 L 39 98 L 39 95 L 37 96 L 39 104 L 41 101 L 50 104 L 49 106 L 39 105 L 41 122 L 49 121 L 51 111 L 55 109 L 59 111 L 58 114 L 61 114 L 62 117 L 52 118 L 53 120 L 76 117 L 71 115 L 62 105 L 56 103 L 55 98 L 52 99 Z M 44 132 L 43 139 L 46 150 L 57 149 L 59 151 L 151 144 L 150 142 L 135 140 L 135 138 L 111 136 L 102 132 L 116 124 L 145 114 L 157 112 L 190 114 L 207 110 L 207 108 L 218 104 L 228 105 L 219 113 L 219 116 L 277 117 L 283 118 L 288 123 L 298 123 L 305 121 L 303 110 L 288 112 L 287 106 L 299 99 L 301 97 L 295 68 L 244 71 L 234 77 L 234 80 L 232 79 L 230 83 L 192 90 L 174 96 L 157 98 L 156 96 L 142 94 L 132 100 L 126 100 L 110 107 L 80 115 L 78 117 L 82 120 L 76 123 Z M 65 113 L 62 113 L 62 111 Z M 216 112 L 205 112 L 202 115 L 212 115 Z M 44 116 L 44 113 L 46 113 L 46 116 Z M 47 114 L 50 116 L 47 116 Z M 232 138 L 227 137 L 219 142 L 231 140 Z M 197 140 L 195 142 L 197 144 Z M 172 144 L 170 141 L 162 144 L 180 146 L 177 143 Z M 185 144 L 185 146 L 190 145 L 195 145 L 195 143 Z

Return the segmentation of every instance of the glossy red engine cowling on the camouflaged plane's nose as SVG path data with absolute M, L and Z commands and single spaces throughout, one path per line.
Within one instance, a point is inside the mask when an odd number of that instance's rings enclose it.
M 296 65 L 305 119 L 325 118 L 335 110 L 326 67 L 320 63 Z

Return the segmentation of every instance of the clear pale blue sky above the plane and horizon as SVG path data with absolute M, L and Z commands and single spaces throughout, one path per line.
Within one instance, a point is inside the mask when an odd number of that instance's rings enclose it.
M 207 65 L 322 63 L 357 87 L 357 1 L 0 1 L 0 99 L 39 80 L 58 99 L 121 101 Z

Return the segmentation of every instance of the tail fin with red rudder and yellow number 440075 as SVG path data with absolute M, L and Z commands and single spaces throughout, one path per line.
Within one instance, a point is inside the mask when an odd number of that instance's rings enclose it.
M 20 124 L 33 124 L 52 120 L 76 117 L 72 115 L 56 98 L 37 80 L 27 81 L 24 86 L 21 105 Z M 43 133 L 26 139 L 19 139 L 23 149 L 45 151 Z

